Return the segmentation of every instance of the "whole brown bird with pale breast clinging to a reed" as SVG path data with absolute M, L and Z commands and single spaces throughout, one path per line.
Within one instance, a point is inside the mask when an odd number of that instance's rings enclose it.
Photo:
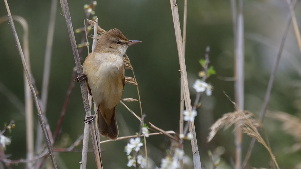
M 122 57 L 130 45 L 138 43 L 141 41 L 130 41 L 118 29 L 111 29 L 98 38 L 94 52 L 83 63 L 89 94 L 98 105 L 99 133 L 113 140 L 118 137 L 116 106 L 125 84 Z

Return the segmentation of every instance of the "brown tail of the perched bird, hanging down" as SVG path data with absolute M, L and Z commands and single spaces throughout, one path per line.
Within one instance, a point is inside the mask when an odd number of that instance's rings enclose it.
M 112 114 L 112 112 L 100 112 L 100 109 L 98 107 L 97 109 L 97 126 L 98 126 L 98 131 L 102 136 L 109 137 L 112 140 L 116 140 L 118 137 L 118 126 L 116 122 L 116 107 L 114 107 L 111 110 L 106 110 L 106 111 L 113 111 L 113 115 L 111 119 L 105 120 L 103 115 L 106 114 Z M 104 111 L 104 110 L 102 110 Z M 106 117 L 108 118 L 108 117 Z M 107 122 L 106 122 L 107 121 Z

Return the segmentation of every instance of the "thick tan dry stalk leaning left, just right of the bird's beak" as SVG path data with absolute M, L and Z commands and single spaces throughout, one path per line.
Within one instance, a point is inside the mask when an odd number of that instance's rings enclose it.
M 180 28 L 178 6 L 177 6 L 175 0 L 170 0 L 170 6 L 171 6 L 171 10 L 172 10 L 172 18 L 173 18 L 173 23 L 174 23 L 174 27 L 175 27 L 175 37 L 176 37 L 177 48 L 178 48 L 181 79 L 182 79 L 183 88 L 184 88 L 185 106 L 186 106 L 186 109 L 188 109 L 188 111 L 192 111 L 190 93 L 189 93 L 189 88 L 188 88 L 187 71 L 186 71 L 184 51 L 183 51 L 183 42 L 182 42 L 182 35 L 181 35 L 181 28 Z M 200 152 L 197 147 L 197 137 L 196 137 L 196 133 L 195 133 L 194 122 L 191 122 L 189 124 L 189 131 L 192 134 L 191 147 L 192 147 L 192 153 L 193 153 L 194 169 L 196 169 L 196 168 L 201 169 L 202 167 L 201 167 L 201 161 L 200 161 Z

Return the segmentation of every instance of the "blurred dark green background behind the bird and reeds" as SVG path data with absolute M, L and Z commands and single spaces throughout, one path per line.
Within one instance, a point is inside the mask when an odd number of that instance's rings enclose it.
M 85 12 L 83 6 L 90 1 L 69 1 L 73 28 L 83 27 Z M 177 1 L 182 26 L 184 1 Z M 26 19 L 29 25 L 29 52 L 33 77 L 37 88 L 41 89 L 42 75 L 47 38 L 51 1 L 8 2 L 11 13 Z M 301 5 L 296 4 L 296 18 L 301 17 Z M 281 37 L 287 23 L 289 8 L 286 1 L 281 0 L 250 0 L 244 1 L 245 28 L 245 109 L 258 116 L 262 107 L 270 70 L 278 53 Z M 0 1 L 0 16 L 7 15 L 3 1 Z M 95 16 L 99 25 L 105 29 L 118 28 L 131 40 L 143 43 L 129 47 L 130 58 L 139 84 L 142 109 L 147 115 L 145 121 L 164 130 L 179 128 L 180 107 L 180 73 L 175 33 L 169 1 L 162 0 L 110 0 L 98 1 Z M 300 24 L 300 23 L 298 23 Z M 23 30 L 15 22 L 17 33 L 22 42 Z M 92 33 L 92 32 L 91 32 Z M 76 34 L 79 44 L 82 34 Z M 92 39 L 89 38 L 92 44 Z M 232 129 L 220 131 L 212 142 L 206 143 L 208 128 L 222 114 L 234 110 L 233 105 L 225 96 L 225 91 L 234 99 L 233 81 L 222 80 L 222 77 L 234 76 L 234 45 L 230 1 L 202 0 L 189 1 L 187 13 L 186 67 L 192 102 L 195 90 L 194 81 L 199 78 L 197 73 L 202 70 L 198 60 L 204 57 L 205 48 L 211 48 L 211 65 L 217 74 L 208 79 L 214 86 L 213 95 L 203 95 L 202 107 L 198 109 L 195 120 L 198 147 L 201 162 L 205 168 L 212 168 L 207 150 L 218 146 L 225 147 L 222 155 L 221 168 L 231 168 L 230 158 L 235 157 L 235 145 Z M 66 92 L 71 81 L 75 66 L 73 53 L 65 18 L 58 3 L 55 22 L 54 44 L 52 48 L 51 77 L 47 103 L 47 118 L 51 131 L 54 132 L 57 120 L 64 104 Z M 90 47 L 91 50 L 91 47 Z M 0 82 L 11 90 L 24 103 L 23 67 L 20 61 L 11 27 L 7 22 L 0 25 Z M 87 49 L 83 50 L 87 56 Z M 284 111 L 290 114 L 299 113 L 300 104 L 300 51 L 297 45 L 293 26 L 287 37 L 284 53 L 277 72 L 268 110 Z M 132 76 L 127 70 L 126 76 Z M 137 98 L 136 87 L 126 84 L 123 98 Z M 138 102 L 126 103 L 135 113 L 140 114 Z M 26 158 L 25 116 L 8 98 L 0 93 L 0 124 L 15 120 L 16 127 L 11 134 L 11 145 L 5 153 L 10 159 Z M 72 92 L 70 104 L 62 125 L 61 135 L 54 147 L 67 147 L 83 133 L 85 118 L 79 84 Z M 117 106 L 119 136 L 135 134 L 139 121 L 121 104 Z M 35 130 L 38 122 L 35 110 Z M 294 168 L 300 163 L 301 153 L 288 153 L 287 149 L 295 140 L 281 130 L 281 123 L 269 118 L 264 125 L 271 143 L 272 151 L 277 156 L 281 168 Z M 3 129 L 2 127 L 0 129 Z M 101 138 L 105 140 L 105 138 Z M 243 159 L 250 143 L 250 137 L 243 137 Z M 104 168 L 128 168 L 124 146 L 128 140 L 102 144 Z M 147 138 L 148 155 L 154 165 L 160 164 L 169 148 L 164 136 Z M 89 144 L 92 148 L 91 143 Z M 81 150 L 82 145 L 76 150 Z M 143 152 L 144 153 L 144 152 Z M 185 142 L 185 153 L 192 158 L 191 144 Z M 80 152 L 62 152 L 60 158 L 67 168 L 79 167 Z M 248 166 L 266 167 L 270 164 L 267 150 L 259 143 L 255 144 Z M 60 164 L 62 165 L 62 164 Z M 153 165 L 153 166 L 154 166 Z M 95 168 L 92 152 L 88 153 L 88 168 Z M 24 168 L 23 164 L 13 168 Z

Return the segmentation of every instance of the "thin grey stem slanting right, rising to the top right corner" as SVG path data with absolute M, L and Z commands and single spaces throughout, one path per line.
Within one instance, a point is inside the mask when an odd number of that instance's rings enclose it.
M 297 0 L 294 0 L 293 3 L 291 4 L 293 6 L 293 8 L 295 7 L 296 2 L 297 2 Z M 289 16 L 288 16 L 287 25 L 285 27 L 284 34 L 283 34 L 282 39 L 281 39 L 281 44 L 280 44 L 280 48 L 279 48 L 279 51 L 278 51 L 278 55 L 275 58 L 275 62 L 274 62 L 273 67 L 272 67 L 270 80 L 268 82 L 268 87 L 267 87 L 267 90 L 266 90 L 266 93 L 265 93 L 265 99 L 264 99 L 264 102 L 263 102 L 263 105 L 262 105 L 262 109 L 260 111 L 259 119 L 260 119 L 261 122 L 263 122 L 265 112 L 266 112 L 266 109 L 267 109 L 267 106 L 268 106 L 268 102 L 270 100 L 270 95 L 271 95 L 271 91 L 272 91 L 274 78 L 275 78 L 275 75 L 276 75 L 276 72 L 277 72 L 277 69 L 278 69 L 278 65 L 279 65 L 279 62 L 280 62 L 282 51 L 284 49 L 284 44 L 285 44 L 285 41 L 286 41 L 286 38 L 287 38 L 287 34 L 288 34 L 288 31 L 289 31 L 289 28 L 290 28 L 291 21 L 292 21 L 292 14 L 290 13 Z M 246 167 L 247 162 L 249 161 L 249 158 L 251 156 L 255 141 L 256 141 L 256 138 L 253 138 L 251 143 L 250 143 L 250 147 L 249 147 L 247 155 L 244 159 L 242 169 L 244 169 L 244 167 Z

